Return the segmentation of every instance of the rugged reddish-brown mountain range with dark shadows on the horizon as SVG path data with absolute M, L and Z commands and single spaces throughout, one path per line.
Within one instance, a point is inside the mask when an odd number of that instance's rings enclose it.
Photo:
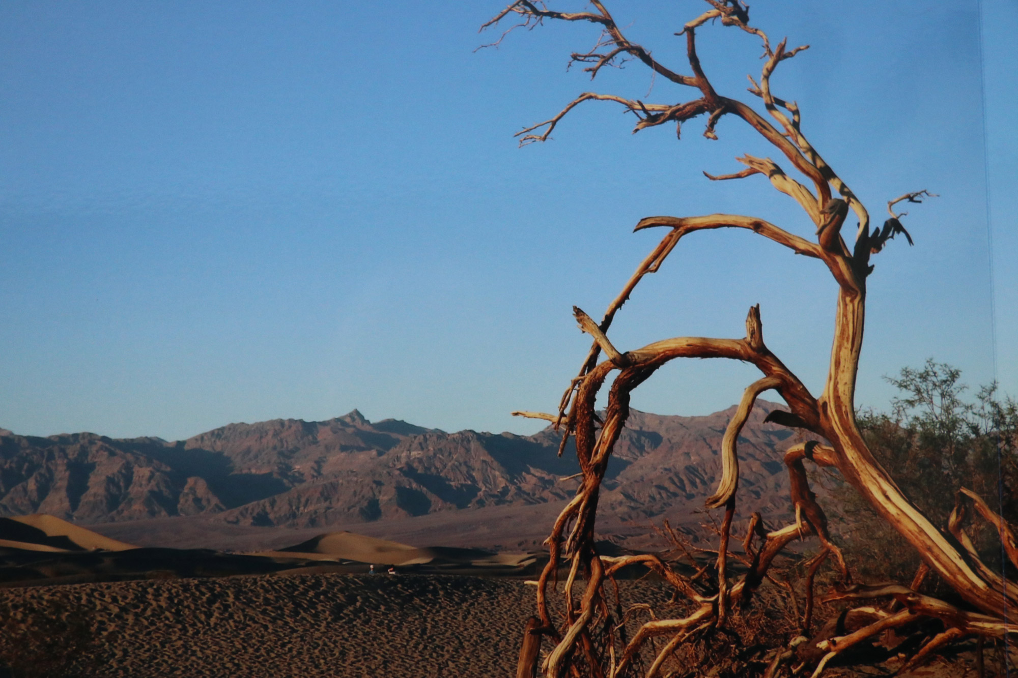
M 787 511 L 785 443 L 760 401 L 739 440 L 745 509 Z M 602 506 L 627 519 L 699 508 L 721 472 L 734 407 L 706 416 L 633 411 Z M 360 412 L 326 421 L 232 423 L 185 441 L 48 438 L 0 431 L 0 516 L 102 523 L 210 515 L 234 524 L 325 527 L 571 497 L 579 469 L 559 434 L 445 433 Z M 751 506 L 750 506 L 751 505 Z

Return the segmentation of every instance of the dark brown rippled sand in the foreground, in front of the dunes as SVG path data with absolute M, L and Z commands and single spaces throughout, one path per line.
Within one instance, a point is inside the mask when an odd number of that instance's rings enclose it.
M 624 599 L 668 599 L 658 583 L 620 583 Z M 15 678 L 512 676 L 533 594 L 518 580 L 437 575 L 9 588 L 0 661 Z

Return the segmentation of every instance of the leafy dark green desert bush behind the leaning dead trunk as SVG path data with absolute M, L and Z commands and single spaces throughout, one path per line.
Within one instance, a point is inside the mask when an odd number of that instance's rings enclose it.
M 868 408 L 856 417 L 866 445 L 905 496 L 945 530 L 959 488 L 986 498 L 1014 522 L 1018 403 L 1001 397 L 996 384 L 969 394 L 960 370 L 932 358 L 886 379 L 900 392 L 890 411 Z M 860 574 L 870 580 L 910 577 L 918 554 L 849 486 L 836 495 L 846 518 L 845 547 Z M 1007 563 L 989 525 L 973 528 L 972 538 L 987 565 L 1000 569 Z

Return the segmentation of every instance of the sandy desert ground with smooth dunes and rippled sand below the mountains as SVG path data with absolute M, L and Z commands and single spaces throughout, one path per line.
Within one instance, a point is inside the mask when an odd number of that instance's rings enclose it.
M 0 676 L 9 678 L 511 677 L 540 563 L 538 554 L 421 549 L 351 532 L 258 555 L 133 548 L 45 515 L 0 518 Z M 377 573 L 364 573 L 369 562 Z M 396 574 L 385 572 L 391 564 Z M 623 579 L 619 590 L 630 637 L 654 616 L 689 612 L 661 581 Z M 745 623 L 770 632 L 766 617 Z M 736 673 L 675 658 L 664 675 L 759 675 L 767 655 L 757 647 Z M 973 666 L 963 649 L 905 675 L 958 677 Z

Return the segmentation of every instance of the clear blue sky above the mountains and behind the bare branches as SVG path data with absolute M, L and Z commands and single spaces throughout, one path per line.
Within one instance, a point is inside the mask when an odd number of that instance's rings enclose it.
M 0 4 L 0 427 L 178 439 L 356 407 L 529 433 L 541 425 L 509 412 L 553 409 L 588 345 L 572 304 L 600 318 L 662 235 L 632 234 L 639 218 L 734 212 L 811 234 L 760 177 L 700 174 L 736 171 L 745 152 L 781 160 L 736 118 L 718 142 L 702 120 L 677 140 L 671 126 L 632 135 L 631 117 L 589 104 L 553 142 L 517 149 L 513 132 L 589 89 L 691 93 L 635 64 L 592 86 L 567 71 L 597 39 L 589 24 L 474 52 L 502 6 Z M 673 34 L 702 3 L 609 6 L 688 70 Z M 811 45 L 776 93 L 798 101 L 874 220 L 908 190 L 941 194 L 910 206 L 914 247 L 874 258 L 860 404 L 886 405 L 882 375 L 928 356 L 991 381 L 995 327 L 996 374 L 1018 394 L 1018 4 L 985 0 L 981 14 L 980 32 L 973 0 L 752 6 L 775 42 Z M 698 37 L 718 90 L 752 100 L 755 39 Z M 622 349 L 738 337 L 759 302 L 768 344 L 816 393 L 834 298 L 814 261 L 697 234 L 611 336 Z M 633 405 L 709 413 L 753 379 L 737 363 L 673 364 Z

